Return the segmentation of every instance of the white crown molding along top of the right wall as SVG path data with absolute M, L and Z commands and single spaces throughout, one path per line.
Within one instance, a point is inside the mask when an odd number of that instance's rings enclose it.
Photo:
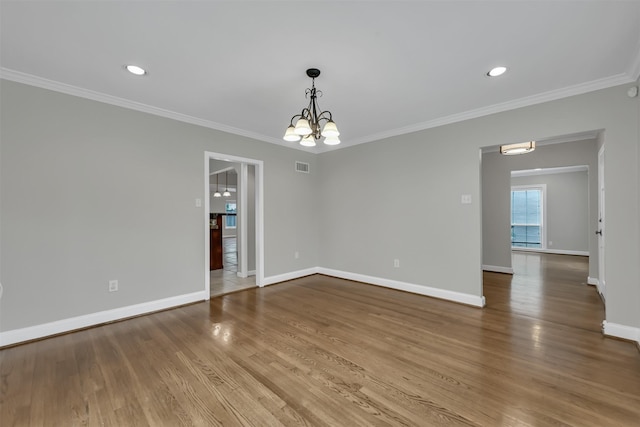
M 640 58 L 640 57 L 639 57 Z M 636 68 L 640 68 L 639 60 L 636 60 Z M 552 90 L 548 92 L 539 93 L 532 96 L 527 96 L 513 101 L 502 102 L 499 104 L 489 105 L 487 107 L 477 108 L 475 110 L 469 110 L 458 114 L 452 114 L 450 116 L 441 117 L 434 120 L 429 120 L 415 125 L 406 126 L 402 128 L 392 129 L 390 131 L 380 132 L 377 134 L 369 135 L 363 138 L 357 138 L 350 141 L 349 146 L 364 144 L 367 142 L 378 141 L 385 138 L 391 138 L 394 136 L 404 135 L 408 133 L 418 132 L 426 129 L 435 128 L 438 126 L 444 126 L 452 123 L 462 122 L 465 120 L 476 119 L 490 114 L 502 113 L 509 110 L 515 110 L 517 108 L 528 107 L 531 105 L 542 104 L 544 102 L 555 101 L 562 98 L 568 98 L 570 96 L 582 95 L 588 92 L 594 92 L 600 89 L 607 89 L 614 86 L 619 86 L 627 83 L 633 83 L 637 80 L 633 75 L 628 73 L 620 73 L 615 76 L 606 77 L 603 79 L 592 80 L 590 82 L 581 83 L 574 86 L 568 86 L 562 89 Z M 336 147 L 337 149 L 346 147 Z

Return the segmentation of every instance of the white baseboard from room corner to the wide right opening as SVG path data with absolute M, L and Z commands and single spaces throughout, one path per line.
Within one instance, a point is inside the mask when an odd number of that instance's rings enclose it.
M 447 301 L 454 301 L 462 304 L 473 305 L 476 307 L 484 307 L 485 299 L 483 296 L 464 294 L 461 292 L 448 291 L 445 289 L 432 288 L 430 286 L 416 285 L 414 283 L 399 282 L 397 280 L 383 279 L 380 277 L 366 276 L 364 274 L 349 273 L 346 271 L 332 270 L 329 268 L 319 267 L 318 273 L 325 274 L 327 276 L 339 277 L 341 279 L 355 280 L 357 282 L 369 283 L 377 286 L 384 286 L 385 288 L 397 289 L 400 291 L 411 292 L 414 294 L 425 295 L 428 297 L 434 297 L 444 299 Z

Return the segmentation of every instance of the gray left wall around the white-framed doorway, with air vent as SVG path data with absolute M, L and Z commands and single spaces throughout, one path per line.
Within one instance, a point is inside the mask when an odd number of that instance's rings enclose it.
M 318 265 L 312 154 L 0 84 L 0 330 L 203 291 L 205 151 L 264 161 L 265 275 Z

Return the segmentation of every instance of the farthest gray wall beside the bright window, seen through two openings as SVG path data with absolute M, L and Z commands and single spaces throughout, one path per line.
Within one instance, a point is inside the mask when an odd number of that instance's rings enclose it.
M 589 253 L 595 228 L 589 226 L 588 178 L 587 171 L 511 178 L 511 186 L 546 186 L 547 249 Z M 593 191 L 597 197 L 597 187 Z

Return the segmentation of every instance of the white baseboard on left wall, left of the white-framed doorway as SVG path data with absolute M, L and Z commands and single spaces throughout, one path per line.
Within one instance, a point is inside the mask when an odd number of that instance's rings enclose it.
M 43 323 L 26 328 L 0 332 L 0 346 L 7 346 L 24 341 L 44 338 L 51 335 L 71 332 L 90 326 L 97 326 L 134 316 L 149 314 L 155 311 L 167 310 L 181 305 L 198 301 L 205 301 L 208 299 L 208 293 L 204 291 L 198 291 L 190 294 L 178 295 L 175 297 L 129 305 L 126 307 L 114 308 L 112 310 L 99 311 L 97 313 L 86 314 L 83 316 L 56 320 L 54 322 Z

